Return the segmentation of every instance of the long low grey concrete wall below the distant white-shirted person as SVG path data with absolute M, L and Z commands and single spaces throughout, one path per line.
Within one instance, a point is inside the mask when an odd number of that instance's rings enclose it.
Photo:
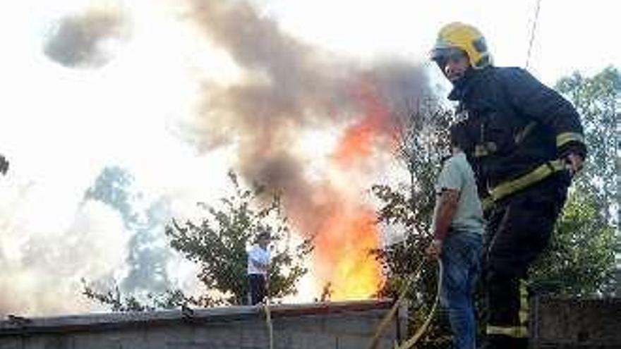
M 389 301 L 274 305 L 275 348 L 366 348 L 390 305 Z M 267 333 L 263 310 L 256 307 L 194 310 L 191 316 L 167 311 L 13 318 L 0 322 L 0 349 L 264 349 L 269 348 Z M 394 320 L 380 348 L 392 348 L 396 333 Z

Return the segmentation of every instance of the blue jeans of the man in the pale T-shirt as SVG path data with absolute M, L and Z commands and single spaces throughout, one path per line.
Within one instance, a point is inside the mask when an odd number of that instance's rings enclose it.
M 473 294 L 481 273 L 482 245 L 480 233 L 467 231 L 451 231 L 442 245 L 440 302 L 448 310 L 454 349 L 476 348 Z

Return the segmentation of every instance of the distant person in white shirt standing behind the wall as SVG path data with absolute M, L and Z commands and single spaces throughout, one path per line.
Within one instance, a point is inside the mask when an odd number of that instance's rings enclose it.
M 256 243 L 248 252 L 248 281 L 250 282 L 251 305 L 263 302 L 266 293 L 267 271 L 270 269 L 270 233 L 262 231 Z

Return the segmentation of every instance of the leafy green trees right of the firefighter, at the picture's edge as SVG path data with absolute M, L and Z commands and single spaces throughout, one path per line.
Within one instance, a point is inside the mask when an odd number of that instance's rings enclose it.
M 589 157 L 574 178 L 552 246 L 533 270 L 534 280 L 557 293 L 612 293 L 621 214 L 621 75 L 613 67 L 591 78 L 574 73 L 559 80 L 557 90 L 581 115 Z

